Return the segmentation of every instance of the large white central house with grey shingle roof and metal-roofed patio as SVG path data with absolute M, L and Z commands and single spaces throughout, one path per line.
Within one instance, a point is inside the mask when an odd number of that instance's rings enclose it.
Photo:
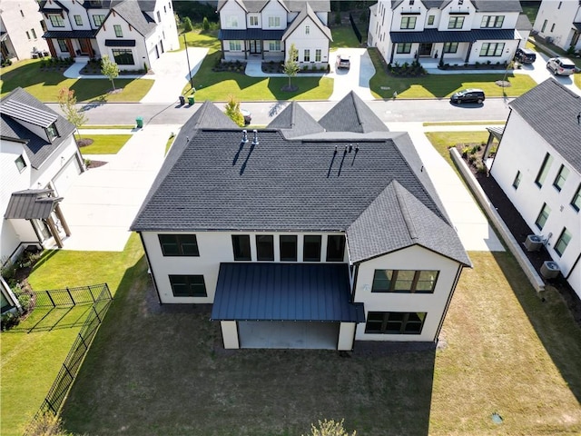
M 212 303 L 225 348 L 437 341 L 470 265 L 409 135 L 353 92 L 248 134 L 205 102 L 132 230 L 160 303 Z

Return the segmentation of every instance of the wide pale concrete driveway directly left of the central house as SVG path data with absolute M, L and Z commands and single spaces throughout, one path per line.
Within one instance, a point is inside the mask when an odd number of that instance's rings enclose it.
M 145 125 L 133 132 L 118 154 L 92 156 L 107 163 L 79 175 L 63 193 L 61 206 L 71 228 L 71 236 L 64 240 L 65 250 L 123 251 L 131 234 L 129 226 L 162 166 L 165 144 L 180 127 Z M 90 136 L 95 131 L 82 133 Z

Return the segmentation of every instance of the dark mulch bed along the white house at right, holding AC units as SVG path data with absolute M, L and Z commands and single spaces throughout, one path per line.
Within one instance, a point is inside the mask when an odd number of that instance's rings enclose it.
M 459 151 L 461 153 L 461 149 Z M 510 233 L 512 233 L 517 242 L 524 243 L 527 239 L 527 235 L 534 234 L 535 232 L 531 230 L 521 214 L 518 213 L 515 206 L 508 199 L 507 194 L 504 193 L 494 177 L 487 176 L 487 173 L 478 172 L 474 165 L 468 164 L 468 167 L 474 174 L 474 177 L 482 187 L 483 191 L 487 194 L 490 202 L 497 209 L 497 213 L 507 224 Z M 535 270 L 537 270 L 542 278 L 542 275 L 540 274 L 541 265 L 545 261 L 551 260 L 551 256 L 547 252 L 547 249 L 542 247 L 538 252 L 528 252 L 523 246 L 523 253 L 525 253 L 529 262 L 535 267 Z M 575 318 L 577 324 L 581 326 L 581 300 L 569 283 L 566 282 L 563 275 L 559 274 L 556 279 L 543 280 L 545 284 L 554 287 L 559 292 L 563 300 L 565 300 L 569 311 L 571 311 L 573 318 Z

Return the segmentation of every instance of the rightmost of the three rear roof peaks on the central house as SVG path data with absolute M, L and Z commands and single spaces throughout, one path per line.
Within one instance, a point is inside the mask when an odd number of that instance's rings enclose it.
M 319 124 L 328 132 L 389 132 L 388 127 L 379 119 L 358 94 L 351 91 L 325 114 Z

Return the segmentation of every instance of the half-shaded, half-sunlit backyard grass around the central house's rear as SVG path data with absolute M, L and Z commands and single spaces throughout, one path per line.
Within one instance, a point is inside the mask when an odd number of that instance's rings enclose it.
M 581 332 L 507 253 L 470 253 L 434 351 L 222 350 L 192 306 L 159 306 L 142 261 L 64 406 L 88 435 L 300 435 L 345 419 L 361 435 L 581 431 Z M 498 412 L 503 424 L 491 421 Z

